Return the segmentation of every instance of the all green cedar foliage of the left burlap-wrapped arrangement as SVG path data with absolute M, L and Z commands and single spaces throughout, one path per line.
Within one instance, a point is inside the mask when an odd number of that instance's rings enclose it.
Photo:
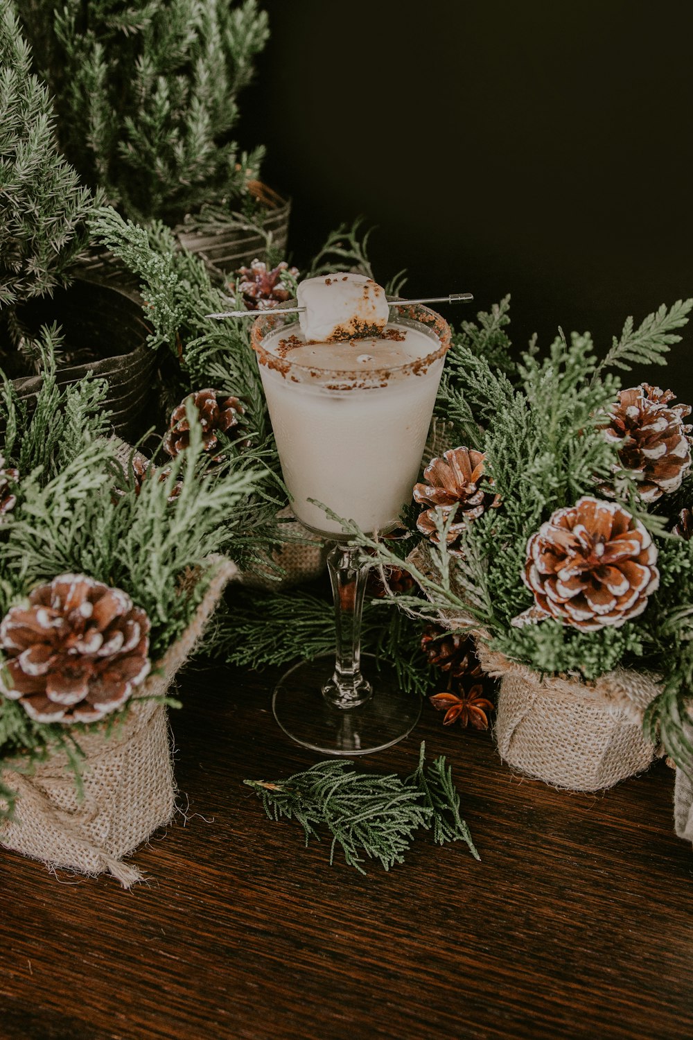
M 0 532 L 0 613 L 58 574 L 88 574 L 123 589 L 146 612 L 150 656 L 156 661 L 192 619 L 211 577 L 209 555 L 234 554 L 238 532 L 218 518 L 238 512 L 259 474 L 243 466 L 211 469 L 189 407 L 189 448 L 170 463 L 164 480 L 148 477 L 138 489 L 116 461 L 118 442 L 102 436 L 104 384 L 82 380 L 57 388 L 46 349 L 33 414 L 7 381 L 0 395 L 0 424 L 6 431 L 0 452 L 20 471 L 12 488 L 17 504 Z M 179 480 L 180 494 L 169 501 Z M 193 575 L 197 580 L 190 580 Z M 30 769 L 32 761 L 62 748 L 78 771 L 82 731 L 34 723 L 19 702 L 0 697 L 3 766 Z M 0 796 L 6 803 L 0 814 L 11 811 L 11 792 L 3 789 Z

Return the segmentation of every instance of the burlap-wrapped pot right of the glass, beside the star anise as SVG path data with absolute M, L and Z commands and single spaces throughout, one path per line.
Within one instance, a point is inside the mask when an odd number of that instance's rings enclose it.
M 541 676 L 478 643 L 481 666 L 500 678 L 495 736 L 513 769 L 556 787 L 603 790 L 646 770 L 657 749 L 642 718 L 659 687 L 616 669 L 594 683 Z

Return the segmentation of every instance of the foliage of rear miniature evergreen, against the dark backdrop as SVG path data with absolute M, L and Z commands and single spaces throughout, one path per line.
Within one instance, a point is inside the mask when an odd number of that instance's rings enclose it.
M 263 154 L 230 139 L 268 36 L 256 0 L 26 0 L 21 12 L 87 184 L 140 223 L 234 208 Z

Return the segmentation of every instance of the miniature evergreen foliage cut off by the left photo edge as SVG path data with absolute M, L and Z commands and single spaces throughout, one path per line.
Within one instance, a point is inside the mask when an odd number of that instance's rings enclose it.
M 94 200 L 60 156 L 45 85 L 9 5 L 0 10 L 0 309 L 51 293 L 88 238 Z

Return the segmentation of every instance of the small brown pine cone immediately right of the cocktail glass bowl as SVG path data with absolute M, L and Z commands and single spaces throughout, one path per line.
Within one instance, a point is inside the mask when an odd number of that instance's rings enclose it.
M 442 459 L 429 462 L 424 470 L 426 483 L 417 484 L 414 489 L 417 502 L 432 506 L 421 514 L 417 527 L 435 545 L 439 542 L 435 528 L 436 511 L 446 520 L 451 511 L 457 511 L 448 531 L 448 549 L 455 555 L 461 553 L 459 540 L 468 522 L 500 505 L 498 495 L 479 487 L 484 475 L 485 458 L 482 451 L 473 448 L 451 448 L 444 452 Z M 490 483 L 486 480 L 486 484 Z

